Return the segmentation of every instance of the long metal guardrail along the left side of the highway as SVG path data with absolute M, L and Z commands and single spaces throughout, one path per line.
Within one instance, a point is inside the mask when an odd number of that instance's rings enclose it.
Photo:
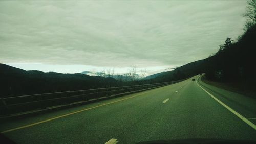
M 177 83 L 183 80 L 154 83 L 154 84 L 144 84 L 144 85 L 108 87 L 108 88 L 65 91 L 65 92 L 55 92 L 55 93 L 22 95 L 22 96 L 16 96 L 16 97 L 5 97 L 0 99 L 1 100 L 0 116 L 26 112 L 26 111 L 36 110 L 36 109 L 46 109 L 48 107 L 53 107 L 58 105 L 67 105 L 74 102 L 87 101 L 89 99 L 110 97 L 115 94 L 152 89 L 152 88 L 157 88 L 157 87 Z

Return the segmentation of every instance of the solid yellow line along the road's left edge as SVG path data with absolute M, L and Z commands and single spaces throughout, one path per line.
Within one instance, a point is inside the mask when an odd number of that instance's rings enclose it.
M 157 89 L 154 89 L 154 90 L 157 90 Z M 87 110 L 94 109 L 94 108 L 97 108 L 97 107 L 101 107 L 101 106 L 113 104 L 113 103 L 120 102 L 120 101 L 123 101 L 123 100 L 131 99 L 131 98 L 137 97 L 137 96 L 139 96 L 139 95 L 143 95 L 143 94 L 150 93 L 150 92 L 152 92 L 152 91 L 143 92 L 143 93 L 138 93 L 138 94 L 136 94 L 136 95 L 133 95 L 132 97 L 124 98 L 124 99 L 117 100 L 117 101 L 110 102 L 110 103 L 105 103 L 105 104 L 98 105 L 98 106 L 91 107 L 91 108 L 82 109 L 82 110 L 79 110 L 79 111 L 71 112 L 71 113 L 64 114 L 64 115 L 60 115 L 60 116 L 57 116 L 57 117 L 49 118 L 49 119 L 46 119 L 46 120 L 44 120 L 44 121 L 40 121 L 40 122 L 32 123 L 32 124 L 29 124 L 29 125 L 25 125 L 25 126 L 21 126 L 21 127 L 9 129 L 9 130 L 6 130 L 6 131 L 2 131 L 1 133 L 7 133 L 7 132 L 11 132 L 11 131 L 15 131 L 15 130 L 19 130 L 19 129 L 24 129 L 24 128 L 27 128 L 27 127 L 31 127 L 31 126 L 34 126 L 34 125 L 38 125 L 38 124 L 41 124 L 41 123 L 46 123 L 46 122 L 49 122 L 49 121 L 53 121 L 54 119 L 58 119 L 58 118 L 65 117 L 65 116 L 69 116 L 69 115 L 76 114 L 76 113 L 79 113 L 79 112 L 87 111 Z

